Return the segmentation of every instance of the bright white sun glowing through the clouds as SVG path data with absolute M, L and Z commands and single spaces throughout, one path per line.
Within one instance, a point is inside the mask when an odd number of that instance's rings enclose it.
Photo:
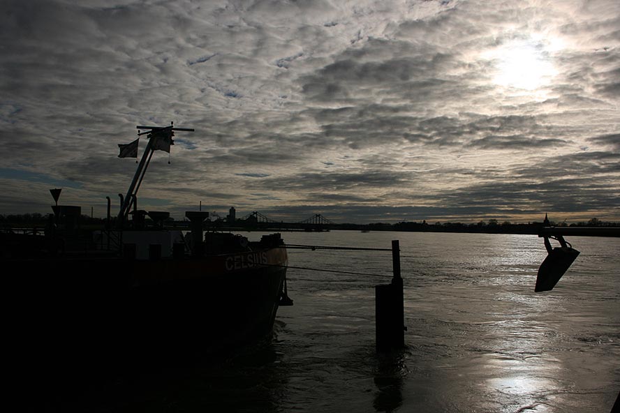
M 494 84 L 515 91 L 536 91 L 552 84 L 557 70 L 544 43 L 532 38 L 512 40 L 491 50 Z

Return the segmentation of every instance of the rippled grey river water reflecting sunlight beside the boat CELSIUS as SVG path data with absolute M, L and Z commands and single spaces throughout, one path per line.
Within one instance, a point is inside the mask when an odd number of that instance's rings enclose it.
M 259 233 L 250 233 L 258 239 Z M 580 257 L 534 293 L 537 236 L 286 232 L 287 243 L 401 245 L 406 350 L 375 353 L 374 285 L 391 253 L 290 250 L 295 306 L 269 345 L 216 362 L 71 389 L 81 412 L 610 412 L 620 391 L 620 239 L 572 237 Z M 223 309 L 225 310 L 225 309 Z

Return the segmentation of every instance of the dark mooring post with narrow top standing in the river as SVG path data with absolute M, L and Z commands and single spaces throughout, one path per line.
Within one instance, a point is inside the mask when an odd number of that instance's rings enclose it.
M 392 241 L 392 283 L 375 286 L 377 351 L 385 352 L 405 346 L 405 311 L 403 278 L 400 272 L 399 241 Z

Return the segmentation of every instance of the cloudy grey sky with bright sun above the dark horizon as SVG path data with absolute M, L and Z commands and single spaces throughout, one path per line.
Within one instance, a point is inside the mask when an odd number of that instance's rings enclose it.
M 4 0 L 0 51 L 3 214 L 117 213 L 173 121 L 175 218 L 620 220 L 617 0 Z

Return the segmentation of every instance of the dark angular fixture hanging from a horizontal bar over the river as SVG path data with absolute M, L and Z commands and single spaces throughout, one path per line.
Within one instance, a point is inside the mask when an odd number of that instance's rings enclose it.
M 538 277 L 536 278 L 535 292 L 550 291 L 558 283 L 560 278 L 566 273 L 570 264 L 573 264 L 579 251 L 564 241 L 562 236 L 554 237 L 560 242 L 559 247 L 551 248 L 549 237 L 545 236 L 545 247 L 547 248 L 547 258 L 540 264 Z

